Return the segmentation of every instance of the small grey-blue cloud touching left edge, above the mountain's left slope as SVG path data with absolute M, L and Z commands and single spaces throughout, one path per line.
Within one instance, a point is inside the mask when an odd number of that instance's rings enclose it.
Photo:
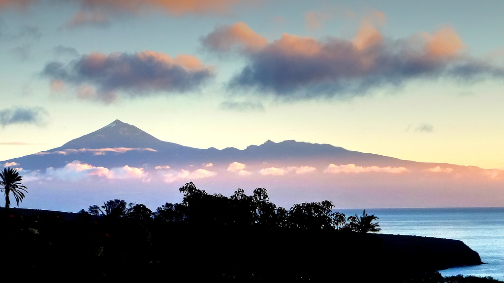
M 42 107 L 23 107 L 14 106 L 0 110 L 0 125 L 14 125 L 14 124 L 34 124 L 42 126 L 46 123 L 46 118 L 49 112 Z

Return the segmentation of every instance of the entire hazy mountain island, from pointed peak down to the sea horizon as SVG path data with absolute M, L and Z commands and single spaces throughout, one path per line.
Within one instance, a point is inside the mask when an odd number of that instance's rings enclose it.
M 268 189 L 283 207 L 330 200 L 336 207 L 503 206 L 504 171 L 421 163 L 284 140 L 244 150 L 196 149 L 164 142 L 119 120 L 61 147 L 15 162 L 29 188 L 22 205 L 79 211 L 109 199 L 155 210 L 180 202 L 193 181 L 209 193 Z M 249 192 L 250 193 L 250 192 Z

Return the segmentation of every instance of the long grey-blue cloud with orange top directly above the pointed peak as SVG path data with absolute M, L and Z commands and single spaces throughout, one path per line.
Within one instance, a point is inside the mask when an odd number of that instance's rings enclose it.
M 214 76 L 213 68 L 192 55 L 143 51 L 134 54 L 90 53 L 68 64 L 49 62 L 42 76 L 76 86 L 78 98 L 115 101 L 118 92 L 127 97 L 159 92 L 196 90 Z

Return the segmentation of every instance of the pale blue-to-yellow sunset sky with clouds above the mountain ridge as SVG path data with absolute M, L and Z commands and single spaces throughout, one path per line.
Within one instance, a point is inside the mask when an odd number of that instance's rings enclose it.
M 0 0 L 0 160 L 115 119 L 504 169 L 504 2 Z

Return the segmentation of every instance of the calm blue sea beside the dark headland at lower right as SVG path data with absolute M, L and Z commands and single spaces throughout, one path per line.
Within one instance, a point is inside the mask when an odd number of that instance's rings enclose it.
M 362 215 L 362 209 L 335 209 Z M 492 276 L 504 281 L 504 207 L 366 209 L 379 217 L 381 233 L 456 239 L 486 264 L 439 270 L 443 276 Z

